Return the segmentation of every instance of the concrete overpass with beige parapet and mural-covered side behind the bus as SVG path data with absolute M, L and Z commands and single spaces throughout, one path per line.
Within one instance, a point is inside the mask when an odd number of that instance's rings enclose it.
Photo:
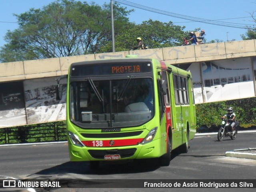
M 190 70 L 196 103 L 256 96 L 256 40 L 0 63 L 0 127 L 65 119 L 65 101 L 53 96 L 56 77 L 74 62 L 128 54 Z

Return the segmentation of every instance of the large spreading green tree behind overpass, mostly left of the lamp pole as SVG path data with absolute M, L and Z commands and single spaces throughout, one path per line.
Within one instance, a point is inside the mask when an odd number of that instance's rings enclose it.
M 131 11 L 114 3 L 116 34 L 129 24 Z M 2 62 L 97 53 L 111 41 L 110 4 L 56 0 L 15 16 L 19 28 L 7 32 L 8 43 L 0 50 Z

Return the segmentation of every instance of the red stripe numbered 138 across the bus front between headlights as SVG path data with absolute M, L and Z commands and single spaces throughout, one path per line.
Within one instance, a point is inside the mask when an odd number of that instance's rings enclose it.
M 94 140 L 82 141 L 85 146 L 89 147 L 116 147 L 138 145 L 144 138 L 139 139 L 113 139 L 113 140 Z

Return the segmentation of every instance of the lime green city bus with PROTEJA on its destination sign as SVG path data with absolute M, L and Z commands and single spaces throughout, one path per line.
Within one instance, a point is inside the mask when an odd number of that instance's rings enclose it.
M 191 73 L 134 55 L 72 63 L 66 126 L 71 161 L 156 158 L 170 164 L 196 133 Z

